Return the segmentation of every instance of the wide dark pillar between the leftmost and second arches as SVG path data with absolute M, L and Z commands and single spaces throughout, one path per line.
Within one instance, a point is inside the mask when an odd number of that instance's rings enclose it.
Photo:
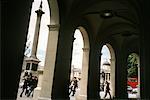
M 70 23 L 62 23 L 59 30 L 52 99 L 68 100 L 74 31 Z

